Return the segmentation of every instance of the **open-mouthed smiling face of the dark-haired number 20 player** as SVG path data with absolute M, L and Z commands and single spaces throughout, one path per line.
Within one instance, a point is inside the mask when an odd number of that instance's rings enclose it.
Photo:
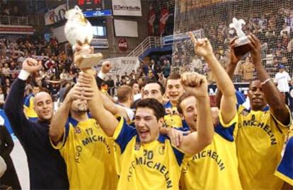
M 134 124 L 142 143 L 150 143 L 159 137 L 159 128 L 163 126 L 163 118 L 156 119 L 154 111 L 148 107 L 138 107 Z

